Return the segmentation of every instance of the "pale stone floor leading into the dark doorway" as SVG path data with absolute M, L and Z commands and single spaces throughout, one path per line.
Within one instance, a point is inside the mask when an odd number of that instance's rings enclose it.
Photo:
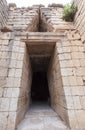
M 63 121 L 46 103 L 34 103 L 17 130 L 68 130 Z

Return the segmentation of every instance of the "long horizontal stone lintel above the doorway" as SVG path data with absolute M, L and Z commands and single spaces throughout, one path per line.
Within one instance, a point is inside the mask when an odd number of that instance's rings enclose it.
M 55 43 L 65 37 L 65 33 L 56 32 L 22 32 L 15 35 L 20 37 L 21 41 L 25 43 Z

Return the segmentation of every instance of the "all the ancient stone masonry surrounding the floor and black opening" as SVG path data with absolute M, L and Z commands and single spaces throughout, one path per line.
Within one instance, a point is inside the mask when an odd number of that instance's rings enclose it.
M 61 130 L 85 129 L 85 1 L 74 3 L 72 23 L 59 5 L 17 8 L 0 1 L 0 130 L 18 130 L 34 72 L 47 73 L 51 107 L 68 127 Z

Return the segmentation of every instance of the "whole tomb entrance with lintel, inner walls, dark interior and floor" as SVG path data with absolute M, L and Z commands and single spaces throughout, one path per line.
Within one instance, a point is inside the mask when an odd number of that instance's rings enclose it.
M 23 93 L 21 99 L 24 97 L 24 105 L 19 108 L 17 130 L 25 128 L 35 130 L 40 125 L 41 130 L 51 127 L 54 130 L 57 128 L 65 130 L 67 127 L 64 122 L 68 125 L 68 118 L 66 111 L 63 112 L 63 106 L 61 109 L 60 105 L 62 98 L 65 103 L 65 97 L 57 52 L 57 42 L 63 35 L 33 34 L 27 33 L 21 36 L 22 42 L 25 43 L 21 81 Z M 50 122 L 44 125 L 47 118 L 48 120 L 52 118 L 52 122 L 56 123 L 53 126 L 50 126 Z M 32 124 L 32 121 L 39 122 Z

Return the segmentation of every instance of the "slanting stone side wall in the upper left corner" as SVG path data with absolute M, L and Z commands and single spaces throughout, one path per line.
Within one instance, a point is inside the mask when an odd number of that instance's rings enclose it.
M 8 19 L 8 7 L 6 0 L 0 0 L 0 29 L 6 26 Z

